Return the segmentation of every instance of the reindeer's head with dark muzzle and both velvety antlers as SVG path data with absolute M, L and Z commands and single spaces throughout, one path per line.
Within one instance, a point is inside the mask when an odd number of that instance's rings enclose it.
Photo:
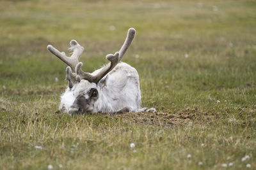
M 122 60 L 134 36 L 135 29 L 130 28 L 124 45 L 120 48 L 119 52 L 106 55 L 106 59 L 109 60 L 109 63 L 93 73 L 86 73 L 81 69 L 83 63 L 79 62 L 79 58 L 84 48 L 79 45 L 76 40 L 70 41 L 71 47 L 69 49 L 73 51 L 70 57 L 67 57 L 65 52 L 58 51 L 52 45 L 47 46 L 49 52 L 56 55 L 56 57 L 68 65 L 66 69 L 68 89 L 65 94 L 67 93 L 68 96 L 67 111 L 70 115 L 74 113 L 92 112 L 93 108 L 97 107 L 95 106 L 95 102 L 102 97 L 100 88 L 102 84 L 104 84 L 104 77 Z

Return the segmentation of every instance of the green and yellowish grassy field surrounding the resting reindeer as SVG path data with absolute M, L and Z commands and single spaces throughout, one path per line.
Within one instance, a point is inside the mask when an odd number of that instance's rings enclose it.
M 253 0 L 0 1 L 0 169 L 256 169 L 255 9 Z M 58 111 L 66 66 L 46 46 L 67 52 L 76 39 L 93 71 L 129 27 L 137 34 L 123 61 L 157 113 Z

